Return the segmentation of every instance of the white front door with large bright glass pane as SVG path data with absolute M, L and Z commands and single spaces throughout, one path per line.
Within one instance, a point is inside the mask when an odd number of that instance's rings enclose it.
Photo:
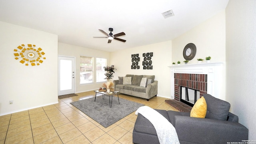
M 74 94 L 75 58 L 58 56 L 58 96 Z

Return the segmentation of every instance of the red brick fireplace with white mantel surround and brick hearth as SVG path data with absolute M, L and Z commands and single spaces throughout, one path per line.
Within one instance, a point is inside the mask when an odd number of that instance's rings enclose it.
M 180 102 L 180 88 L 186 87 L 200 91 L 200 97 L 203 94 L 225 100 L 225 74 L 223 62 L 210 62 L 201 64 L 183 64 L 169 66 L 171 68 L 171 100 L 168 104 L 176 109 L 187 112 L 192 107 Z

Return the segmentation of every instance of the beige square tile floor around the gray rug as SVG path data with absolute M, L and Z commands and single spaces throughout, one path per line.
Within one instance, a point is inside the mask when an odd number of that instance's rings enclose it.
M 70 104 L 94 96 L 94 91 L 82 92 L 58 99 L 58 104 L 0 116 L 0 144 L 132 144 L 135 112 L 104 128 Z M 164 102 L 167 98 L 155 96 L 146 101 L 125 94 L 119 97 L 151 108 L 178 111 Z

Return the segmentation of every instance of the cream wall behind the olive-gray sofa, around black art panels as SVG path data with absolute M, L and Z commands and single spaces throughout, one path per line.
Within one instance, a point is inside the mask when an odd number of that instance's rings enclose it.
M 153 70 L 144 70 L 142 66 L 143 53 L 153 52 Z M 131 69 L 132 54 L 140 54 L 140 69 Z M 158 96 L 171 98 L 171 71 L 168 66 L 171 66 L 172 60 L 172 41 L 150 44 L 129 48 L 122 51 L 111 52 L 110 64 L 116 67 L 114 80 L 118 80 L 118 76 L 126 74 L 136 75 L 155 75 L 155 80 L 158 80 Z

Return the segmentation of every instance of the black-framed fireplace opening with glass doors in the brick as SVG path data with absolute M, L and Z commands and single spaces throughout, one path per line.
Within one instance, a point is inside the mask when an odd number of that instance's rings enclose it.
M 180 101 L 181 102 L 193 107 L 199 98 L 200 98 L 199 90 L 180 86 Z

